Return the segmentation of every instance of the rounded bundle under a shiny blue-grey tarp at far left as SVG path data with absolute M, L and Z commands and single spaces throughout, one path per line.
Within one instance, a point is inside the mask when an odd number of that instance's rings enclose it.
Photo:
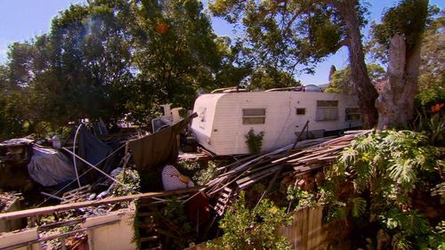
M 35 145 L 32 152 L 28 173 L 34 181 L 44 186 L 53 186 L 76 179 L 71 161 L 60 151 Z

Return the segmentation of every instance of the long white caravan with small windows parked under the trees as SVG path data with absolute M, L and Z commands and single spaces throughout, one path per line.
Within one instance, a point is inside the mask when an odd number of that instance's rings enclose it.
M 361 125 L 357 98 L 320 90 L 203 94 L 191 123 L 198 143 L 218 156 L 248 154 L 246 134 L 263 132 L 262 151 L 292 144 L 309 121 L 309 137 Z M 306 134 L 306 132 L 302 133 Z

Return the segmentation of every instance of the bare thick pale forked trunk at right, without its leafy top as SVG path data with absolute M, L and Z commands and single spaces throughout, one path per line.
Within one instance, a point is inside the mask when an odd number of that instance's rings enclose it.
M 420 66 L 420 43 L 407 54 L 405 37 L 392 36 L 387 79 L 379 91 L 378 130 L 406 128 L 413 117 Z

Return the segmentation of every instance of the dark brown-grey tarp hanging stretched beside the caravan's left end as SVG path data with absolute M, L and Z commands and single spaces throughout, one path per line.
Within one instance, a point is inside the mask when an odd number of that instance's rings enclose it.
M 140 172 L 147 172 L 154 166 L 176 160 L 178 157 L 176 137 L 194 117 L 197 117 L 196 113 L 157 133 L 128 141 L 136 169 Z

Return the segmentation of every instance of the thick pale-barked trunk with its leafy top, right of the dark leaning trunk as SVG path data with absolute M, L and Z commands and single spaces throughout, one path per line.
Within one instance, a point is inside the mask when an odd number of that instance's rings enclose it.
M 376 101 L 378 129 L 407 127 L 413 117 L 428 0 L 405 0 L 384 13 L 374 36 L 389 54 L 388 69 Z

